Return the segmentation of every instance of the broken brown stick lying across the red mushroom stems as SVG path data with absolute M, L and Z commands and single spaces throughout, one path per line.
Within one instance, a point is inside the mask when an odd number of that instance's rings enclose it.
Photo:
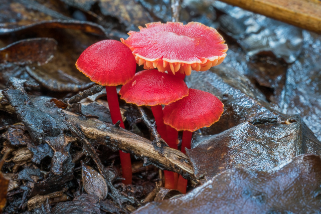
M 87 138 L 98 140 L 114 150 L 122 150 L 143 159 L 144 165 L 153 164 L 159 168 L 172 170 L 197 183 L 194 170 L 187 156 L 177 149 L 167 146 L 157 147 L 151 141 L 122 128 L 108 125 L 94 118 L 80 117 L 63 110 L 66 120 L 75 124 Z

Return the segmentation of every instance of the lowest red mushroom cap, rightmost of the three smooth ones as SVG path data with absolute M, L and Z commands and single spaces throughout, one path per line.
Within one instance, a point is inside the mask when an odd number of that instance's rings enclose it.
M 164 108 L 164 123 L 178 131 L 196 131 L 217 122 L 224 104 L 213 94 L 190 89 L 189 95 Z

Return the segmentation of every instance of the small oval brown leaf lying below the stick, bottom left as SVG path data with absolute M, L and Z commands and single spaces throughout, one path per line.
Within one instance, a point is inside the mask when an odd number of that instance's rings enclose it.
M 108 186 L 104 177 L 84 164 L 82 165 L 82 181 L 88 194 L 95 194 L 102 200 L 107 197 Z

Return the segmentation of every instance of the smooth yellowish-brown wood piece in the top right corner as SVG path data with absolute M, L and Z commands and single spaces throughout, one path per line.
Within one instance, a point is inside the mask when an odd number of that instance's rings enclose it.
M 321 2 L 318 0 L 220 1 L 321 34 Z

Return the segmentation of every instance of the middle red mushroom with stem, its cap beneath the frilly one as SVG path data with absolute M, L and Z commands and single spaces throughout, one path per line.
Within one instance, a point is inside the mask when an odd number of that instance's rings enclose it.
M 135 77 L 122 86 L 119 94 L 127 103 L 138 106 L 150 106 L 154 115 L 157 131 L 168 142 L 166 126 L 163 121 L 162 105 L 175 102 L 189 93 L 184 80 L 179 77 L 160 73 L 156 70 L 145 70 L 135 74 Z M 175 145 L 171 145 L 174 147 Z M 173 172 L 165 171 L 165 187 L 174 188 Z

